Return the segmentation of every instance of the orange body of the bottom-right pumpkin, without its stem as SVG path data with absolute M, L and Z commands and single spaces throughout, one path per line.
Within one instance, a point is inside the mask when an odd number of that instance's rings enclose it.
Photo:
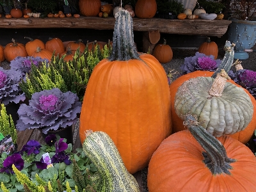
M 231 175 L 212 175 L 203 163 L 204 149 L 188 130 L 172 134 L 161 143 L 148 165 L 148 191 L 255 191 L 256 157 L 248 147 L 228 136 L 220 137 Z

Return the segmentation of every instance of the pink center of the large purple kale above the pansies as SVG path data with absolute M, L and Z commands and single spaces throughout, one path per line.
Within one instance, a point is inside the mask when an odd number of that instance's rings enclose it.
M 39 102 L 40 102 L 41 109 L 45 111 L 53 111 L 54 109 L 56 109 L 56 103 L 58 102 L 58 97 L 56 97 L 55 95 L 48 95 L 48 96 L 42 95 L 39 98 Z

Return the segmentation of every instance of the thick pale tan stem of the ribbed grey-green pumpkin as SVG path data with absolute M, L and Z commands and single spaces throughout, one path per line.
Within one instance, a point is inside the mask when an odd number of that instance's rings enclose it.
M 209 90 L 209 94 L 213 97 L 221 97 L 227 79 L 230 80 L 230 77 L 228 76 L 227 72 L 222 69 L 221 72 L 218 73 L 216 78 L 214 79 L 211 89 Z

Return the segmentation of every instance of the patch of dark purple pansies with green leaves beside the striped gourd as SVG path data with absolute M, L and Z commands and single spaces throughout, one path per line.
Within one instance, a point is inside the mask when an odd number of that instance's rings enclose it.
M 50 134 L 45 138 L 44 145 L 40 145 L 38 141 L 30 140 L 19 152 L 11 156 L 3 153 L 0 156 L 1 182 L 9 191 L 24 191 L 24 186 L 20 184 L 17 175 L 13 172 L 14 164 L 17 170 L 27 175 L 33 182 L 36 182 L 37 175 L 45 183 L 51 182 L 52 188 L 58 188 L 54 183 L 59 180 L 63 188 L 68 182 L 70 188 L 74 189 L 77 182 L 73 174 L 73 162 L 76 162 L 82 175 L 86 175 L 88 172 L 97 173 L 97 169 L 85 156 L 82 148 L 77 148 L 76 152 L 72 152 L 72 144 L 67 144 L 65 141 L 58 135 Z M 49 168 L 42 158 L 45 153 L 49 154 L 53 165 Z

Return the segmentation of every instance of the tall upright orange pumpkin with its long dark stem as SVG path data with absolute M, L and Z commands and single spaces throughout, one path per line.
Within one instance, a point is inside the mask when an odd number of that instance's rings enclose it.
M 127 170 L 136 173 L 148 165 L 172 124 L 166 73 L 154 56 L 138 54 L 132 29 L 129 12 L 117 12 L 112 52 L 93 69 L 86 87 L 79 136 L 83 143 L 88 127 L 106 132 Z

